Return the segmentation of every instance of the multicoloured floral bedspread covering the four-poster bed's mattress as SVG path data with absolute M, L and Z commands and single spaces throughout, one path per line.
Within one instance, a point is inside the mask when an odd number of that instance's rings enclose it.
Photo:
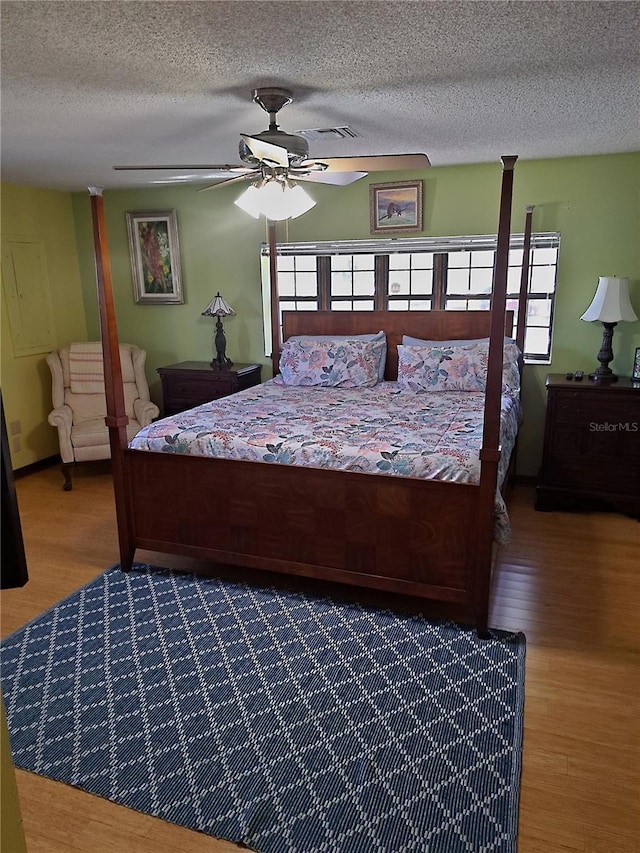
M 477 483 L 484 394 L 290 387 L 273 380 L 144 427 L 135 450 L 186 453 Z M 503 394 L 499 485 L 515 443 L 519 403 Z M 496 492 L 495 538 L 510 524 Z

